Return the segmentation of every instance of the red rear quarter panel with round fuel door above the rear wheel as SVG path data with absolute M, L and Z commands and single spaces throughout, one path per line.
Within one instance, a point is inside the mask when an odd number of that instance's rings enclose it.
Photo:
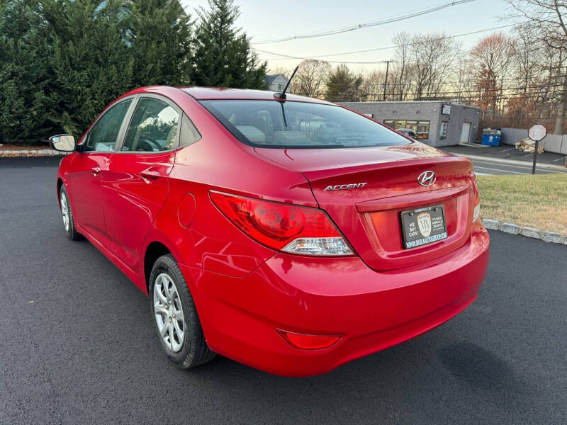
M 246 276 L 275 251 L 232 225 L 212 203 L 209 192 L 311 207 L 317 203 L 301 173 L 259 157 L 191 96 L 177 92 L 172 94 L 172 100 L 189 116 L 202 138 L 176 152 L 169 174 L 169 197 L 157 217 L 155 229 L 169 235 L 179 252 L 178 261 L 184 265 L 227 276 Z M 194 204 L 186 202 L 188 196 L 194 199 Z M 180 220 L 180 215 L 192 217 Z

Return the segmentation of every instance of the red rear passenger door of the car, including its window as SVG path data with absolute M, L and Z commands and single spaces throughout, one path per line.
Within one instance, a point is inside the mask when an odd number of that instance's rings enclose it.
M 104 217 L 109 246 L 133 271 L 147 230 L 167 198 L 180 120 L 181 109 L 169 99 L 140 95 L 108 164 Z

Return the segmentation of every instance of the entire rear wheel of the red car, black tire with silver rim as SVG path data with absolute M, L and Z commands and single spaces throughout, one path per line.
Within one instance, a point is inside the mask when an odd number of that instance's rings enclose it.
M 215 358 L 216 354 L 210 351 L 205 341 L 189 287 L 172 254 L 160 256 L 155 261 L 150 274 L 149 295 L 157 339 L 170 361 L 179 368 L 189 369 Z M 182 320 L 179 319 L 180 312 Z

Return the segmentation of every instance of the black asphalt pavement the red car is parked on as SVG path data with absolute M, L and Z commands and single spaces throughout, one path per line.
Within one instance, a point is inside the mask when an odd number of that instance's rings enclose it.
M 179 370 L 145 295 L 64 236 L 58 162 L 0 159 L 0 424 L 567 423 L 567 246 L 491 232 L 468 310 L 326 375 Z

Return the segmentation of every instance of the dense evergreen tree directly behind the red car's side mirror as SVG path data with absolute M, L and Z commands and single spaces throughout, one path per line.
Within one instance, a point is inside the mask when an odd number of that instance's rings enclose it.
M 56 106 L 51 120 L 81 135 L 114 98 L 133 87 L 134 58 L 125 43 L 122 1 L 43 0 L 53 33 L 50 68 Z

